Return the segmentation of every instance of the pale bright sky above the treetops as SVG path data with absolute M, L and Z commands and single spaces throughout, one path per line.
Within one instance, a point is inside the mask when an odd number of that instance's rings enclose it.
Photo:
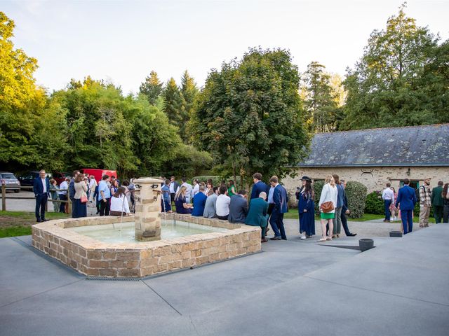
M 138 92 L 154 70 L 180 83 L 187 69 L 201 87 L 210 69 L 250 47 L 285 48 L 305 71 L 312 61 L 344 76 L 370 33 L 384 29 L 402 0 L 0 0 L 15 22 L 15 48 L 38 60 L 49 92 L 90 75 Z M 417 25 L 449 38 L 449 1 L 407 2 Z

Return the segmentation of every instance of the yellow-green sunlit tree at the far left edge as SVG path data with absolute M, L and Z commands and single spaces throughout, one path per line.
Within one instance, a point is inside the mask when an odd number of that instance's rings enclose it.
M 0 163 L 13 171 L 60 169 L 64 115 L 35 83 L 36 59 L 14 48 L 14 27 L 13 20 L 0 12 Z

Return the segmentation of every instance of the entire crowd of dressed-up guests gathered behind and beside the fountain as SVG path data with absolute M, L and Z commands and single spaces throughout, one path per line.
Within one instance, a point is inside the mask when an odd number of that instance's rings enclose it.
M 182 178 L 179 184 L 175 176 L 164 179 L 161 186 L 161 211 L 172 212 L 174 206 L 177 214 L 191 214 L 206 218 L 218 218 L 230 223 L 244 223 L 260 226 L 261 241 L 267 241 L 266 234 L 271 226 L 272 240 L 286 240 L 283 216 L 288 212 L 288 193 L 281 186 L 277 176 L 269 179 L 269 185 L 262 182 L 262 174 L 253 175 L 253 188 L 250 197 L 246 190 L 237 190 L 236 183 L 222 181 L 220 186 L 213 186 L 212 179 L 199 181 L 194 179 L 193 186 Z M 297 187 L 295 196 L 299 214 L 300 239 L 315 235 L 315 195 L 312 180 L 302 176 L 302 186 Z M 384 200 L 385 222 L 396 219 L 396 214 L 403 223 L 403 233 L 413 230 L 413 209 L 420 202 L 420 227 L 429 226 L 430 209 L 434 209 L 436 223 L 448 223 L 449 217 L 449 183 L 438 182 L 431 190 L 430 179 L 417 190 L 410 187 L 410 181 L 404 180 L 402 188 L 396 190 L 387 183 L 382 192 Z M 352 237 L 347 224 L 349 215 L 348 200 L 345 193 L 346 181 L 337 174 L 326 176 L 319 199 L 321 219 L 321 238 L 328 241 L 340 237 L 343 228 L 345 235 Z M 96 207 L 100 216 L 129 216 L 134 212 L 135 186 L 130 181 L 121 183 L 115 176 L 102 176 L 101 181 L 94 176 L 74 171 L 72 178 L 67 177 L 60 186 L 55 180 L 48 180 L 46 172 L 41 170 L 34 181 L 36 196 L 36 221 L 46 221 L 45 205 L 48 197 L 53 200 L 72 201 L 72 217 L 86 217 L 87 206 Z M 249 202 L 248 199 L 249 198 Z M 54 211 L 67 212 L 67 203 L 53 202 Z

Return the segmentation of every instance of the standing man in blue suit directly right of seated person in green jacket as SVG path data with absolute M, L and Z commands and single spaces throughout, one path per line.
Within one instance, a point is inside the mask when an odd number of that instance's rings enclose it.
M 286 188 L 283 188 L 279 184 L 277 176 L 273 176 L 269 179 L 269 183 L 274 188 L 273 201 L 274 208 L 272 211 L 272 216 L 269 219 L 269 223 L 272 225 L 274 231 L 274 237 L 271 240 L 287 240 L 286 230 L 283 227 L 283 214 L 288 212 L 287 202 L 288 195 Z

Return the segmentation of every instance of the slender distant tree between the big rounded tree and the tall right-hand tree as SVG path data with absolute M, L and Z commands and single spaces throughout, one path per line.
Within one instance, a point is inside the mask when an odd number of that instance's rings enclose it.
M 330 75 L 319 62 L 311 62 L 304 73 L 304 109 L 311 132 L 331 132 L 337 122 L 337 94 Z

